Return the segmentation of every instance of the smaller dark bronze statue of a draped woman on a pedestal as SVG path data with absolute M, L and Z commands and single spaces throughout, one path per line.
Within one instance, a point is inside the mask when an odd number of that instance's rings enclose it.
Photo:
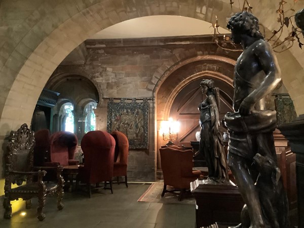
M 207 98 L 199 104 L 201 139 L 200 153 L 205 155 L 208 166 L 208 178 L 216 182 L 229 181 L 227 161 L 219 132 L 218 92 L 212 80 L 204 79 L 201 84 L 202 93 Z

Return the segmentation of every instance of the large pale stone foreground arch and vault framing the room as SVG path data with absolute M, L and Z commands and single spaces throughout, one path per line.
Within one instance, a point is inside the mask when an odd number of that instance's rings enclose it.
M 3 0 L 0 6 L 3 15 L 0 23 L 0 136 L 24 122 L 30 122 L 37 98 L 55 68 L 96 32 L 128 19 L 152 15 L 178 15 L 210 23 L 217 15 L 220 25 L 224 25 L 230 16 L 227 12 L 231 12 L 229 2 L 24 0 L 22 4 L 16 4 Z M 259 9 L 256 16 L 260 17 L 261 23 L 273 30 L 276 24 L 275 1 L 259 0 L 252 5 Z M 299 1 L 295 10 L 303 6 L 303 1 Z M 239 9 L 234 8 L 233 11 Z M 304 57 L 300 53 L 294 47 L 279 55 L 283 82 L 294 100 L 297 114 L 304 113 L 301 102 L 304 98 Z

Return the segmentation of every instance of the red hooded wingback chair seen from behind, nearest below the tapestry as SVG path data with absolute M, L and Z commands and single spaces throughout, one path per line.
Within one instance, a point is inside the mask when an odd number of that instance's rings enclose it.
M 91 184 L 110 183 L 109 189 L 113 194 L 112 177 L 115 153 L 115 139 L 106 131 L 90 131 L 81 140 L 84 153 L 84 166 L 79 167 L 77 183 L 87 183 L 91 198 Z

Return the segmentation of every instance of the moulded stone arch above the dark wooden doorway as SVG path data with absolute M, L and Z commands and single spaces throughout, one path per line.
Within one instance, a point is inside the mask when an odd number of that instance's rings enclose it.
M 203 77 L 204 75 L 211 75 L 214 78 L 220 79 L 224 81 L 227 85 L 233 87 L 233 68 L 236 63 L 236 60 L 232 57 L 220 56 L 220 55 L 202 55 L 200 52 L 192 49 L 186 52 L 180 59 L 178 53 L 173 57 L 165 61 L 162 66 L 160 66 L 155 74 L 153 75 L 153 79 L 150 81 L 150 87 L 154 85 L 154 96 L 156 97 L 156 117 L 157 120 L 164 120 L 169 117 L 170 107 L 174 98 L 178 94 L 178 92 L 185 87 L 192 80 Z M 206 61 L 204 63 L 204 61 Z M 221 67 L 217 66 L 215 63 L 211 64 L 208 61 L 217 61 L 218 63 L 225 63 L 229 65 L 231 71 L 225 69 L 221 69 Z M 166 80 L 176 72 L 179 68 L 186 66 L 187 64 L 191 64 L 194 62 L 202 62 L 201 67 L 198 71 L 189 72 L 185 79 L 178 81 L 178 84 L 174 86 L 173 89 L 167 88 L 166 85 L 163 85 Z M 167 95 L 160 96 L 158 92 L 161 87 L 166 87 L 169 92 Z

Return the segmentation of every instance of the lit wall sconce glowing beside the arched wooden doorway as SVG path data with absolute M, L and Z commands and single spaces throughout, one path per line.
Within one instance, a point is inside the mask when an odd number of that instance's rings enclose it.
M 163 121 L 161 123 L 160 135 L 163 135 L 164 141 L 174 141 L 178 137 L 179 132 L 179 122 L 173 121 L 172 118 L 169 118 L 168 121 Z

